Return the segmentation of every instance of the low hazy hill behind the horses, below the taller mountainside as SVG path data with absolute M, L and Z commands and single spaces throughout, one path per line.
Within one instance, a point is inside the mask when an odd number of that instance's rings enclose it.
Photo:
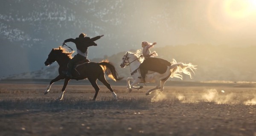
M 198 69 L 190 79 L 184 75 L 184 81 L 256 81 L 256 64 L 254 63 L 254 51 L 256 47 L 230 47 L 190 44 L 186 46 L 165 46 L 153 48 L 157 51 L 158 57 L 171 61 L 174 58 L 177 62 L 192 63 L 198 65 Z M 151 51 L 153 51 L 151 49 Z M 134 50 L 131 50 L 135 52 Z M 120 75 L 129 77 L 129 67 L 120 68 L 122 56 L 125 52 L 115 55 L 105 56 L 106 58 L 96 58 L 90 61 L 100 62 L 108 59 L 113 62 Z M 18 78 L 55 78 L 58 71 L 58 64 L 50 67 L 42 67 L 34 72 L 24 72 L 22 74 L 5 77 L 8 79 Z M 171 79 L 180 81 L 180 79 Z

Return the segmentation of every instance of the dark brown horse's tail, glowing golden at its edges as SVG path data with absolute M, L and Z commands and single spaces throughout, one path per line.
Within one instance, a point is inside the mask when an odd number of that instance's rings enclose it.
M 108 77 L 113 79 L 113 81 L 119 81 L 123 78 L 118 75 L 116 68 L 111 62 L 102 61 L 99 63 L 99 65 L 102 67 L 103 71 L 105 71 L 105 73 L 108 75 Z

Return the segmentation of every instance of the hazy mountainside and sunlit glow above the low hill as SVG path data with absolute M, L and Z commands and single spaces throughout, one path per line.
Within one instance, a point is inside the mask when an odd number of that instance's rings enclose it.
M 89 59 L 141 49 L 142 41 L 157 42 L 155 48 L 190 43 L 256 46 L 256 0 L 6 0 L 0 7 L 1 44 L 13 49 L 13 42 L 24 50 L 17 54 L 24 62 L 16 56 L 0 62 L 12 66 L 18 61 L 20 67 L 29 67 L 25 72 L 44 67 L 52 48 L 81 32 L 105 35 L 96 41 L 98 46 L 89 47 Z M 31 52 L 39 48 L 40 53 Z

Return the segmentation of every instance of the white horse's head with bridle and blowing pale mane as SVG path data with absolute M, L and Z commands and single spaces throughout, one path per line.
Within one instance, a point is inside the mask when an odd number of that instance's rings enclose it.
M 122 63 L 120 64 L 120 67 L 124 68 L 125 66 L 130 65 L 134 61 L 142 61 L 142 59 L 140 59 L 140 53 L 141 49 L 137 50 L 137 52 L 135 53 L 126 52 L 122 58 Z

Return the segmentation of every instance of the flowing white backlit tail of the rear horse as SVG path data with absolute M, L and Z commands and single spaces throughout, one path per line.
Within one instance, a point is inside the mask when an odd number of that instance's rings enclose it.
M 182 73 L 189 75 L 190 78 L 192 78 L 191 72 L 189 69 L 195 74 L 194 70 L 196 70 L 196 65 L 184 64 L 184 63 L 177 63 L 175 59 L 172 59 L 172 65 L 170 67 L 171 70 L 171 78 L 180 78 L 182 80 Z

